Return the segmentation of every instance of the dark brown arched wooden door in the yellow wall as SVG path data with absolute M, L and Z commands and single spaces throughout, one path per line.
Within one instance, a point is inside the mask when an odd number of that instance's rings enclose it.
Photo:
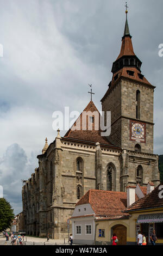
M 112 228 L 112 233 L 116 234 L 118 243 L 117 245 L 126 245 L 127 242 L 127 228 L 124 225 L 116 225 Z

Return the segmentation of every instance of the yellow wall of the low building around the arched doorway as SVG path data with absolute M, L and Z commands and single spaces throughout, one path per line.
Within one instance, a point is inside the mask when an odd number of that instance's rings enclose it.
M 95 221 L 96 227 L 96 241 L 100 242 L 111 242 L 111 228 L 115 225 L 124 225 L 127 228 L 127 242 L 136 242 L 136 224 L 137 218 L 140 214 L 156 214 L 162 212 L 162 209 L 154 211 L 137 211 L 130 212 L 129 220 L 103 220 L 103 221 Z M 99 237 L 98 229 L 105 229 L 105 237 Z M 159 239 L 157 242 L 163 243 L 163 239 Z

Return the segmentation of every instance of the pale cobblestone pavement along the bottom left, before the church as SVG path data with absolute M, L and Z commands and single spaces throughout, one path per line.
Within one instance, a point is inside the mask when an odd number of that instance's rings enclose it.
M 24 236 L 24 245 L 69 245 L 68 239 L 49 239 L 47 242 L 46 238 L 40 237 L 32 237 L 32 236 Z M 6 241 L 6 238 L 0 236 L 0 245 L 11 245 L 11 238 L 9 237 L 9 241 Z M 19 243 L 18 243 L 19 245 Z

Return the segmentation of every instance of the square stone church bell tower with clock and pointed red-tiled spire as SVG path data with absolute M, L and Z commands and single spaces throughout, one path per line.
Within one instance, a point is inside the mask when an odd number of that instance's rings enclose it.
M 121 51 L 112 64 L 112 80 L 103 96 L 102 110 L 111 111 L 109 141 L 122 149 L 153 154 L 154 86 L 141 73 L 127 19 Z

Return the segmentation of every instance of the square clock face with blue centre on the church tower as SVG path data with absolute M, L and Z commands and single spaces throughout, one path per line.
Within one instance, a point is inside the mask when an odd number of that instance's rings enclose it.
M 130 120 L 130 140 L 146 143 L 146 124 Z

